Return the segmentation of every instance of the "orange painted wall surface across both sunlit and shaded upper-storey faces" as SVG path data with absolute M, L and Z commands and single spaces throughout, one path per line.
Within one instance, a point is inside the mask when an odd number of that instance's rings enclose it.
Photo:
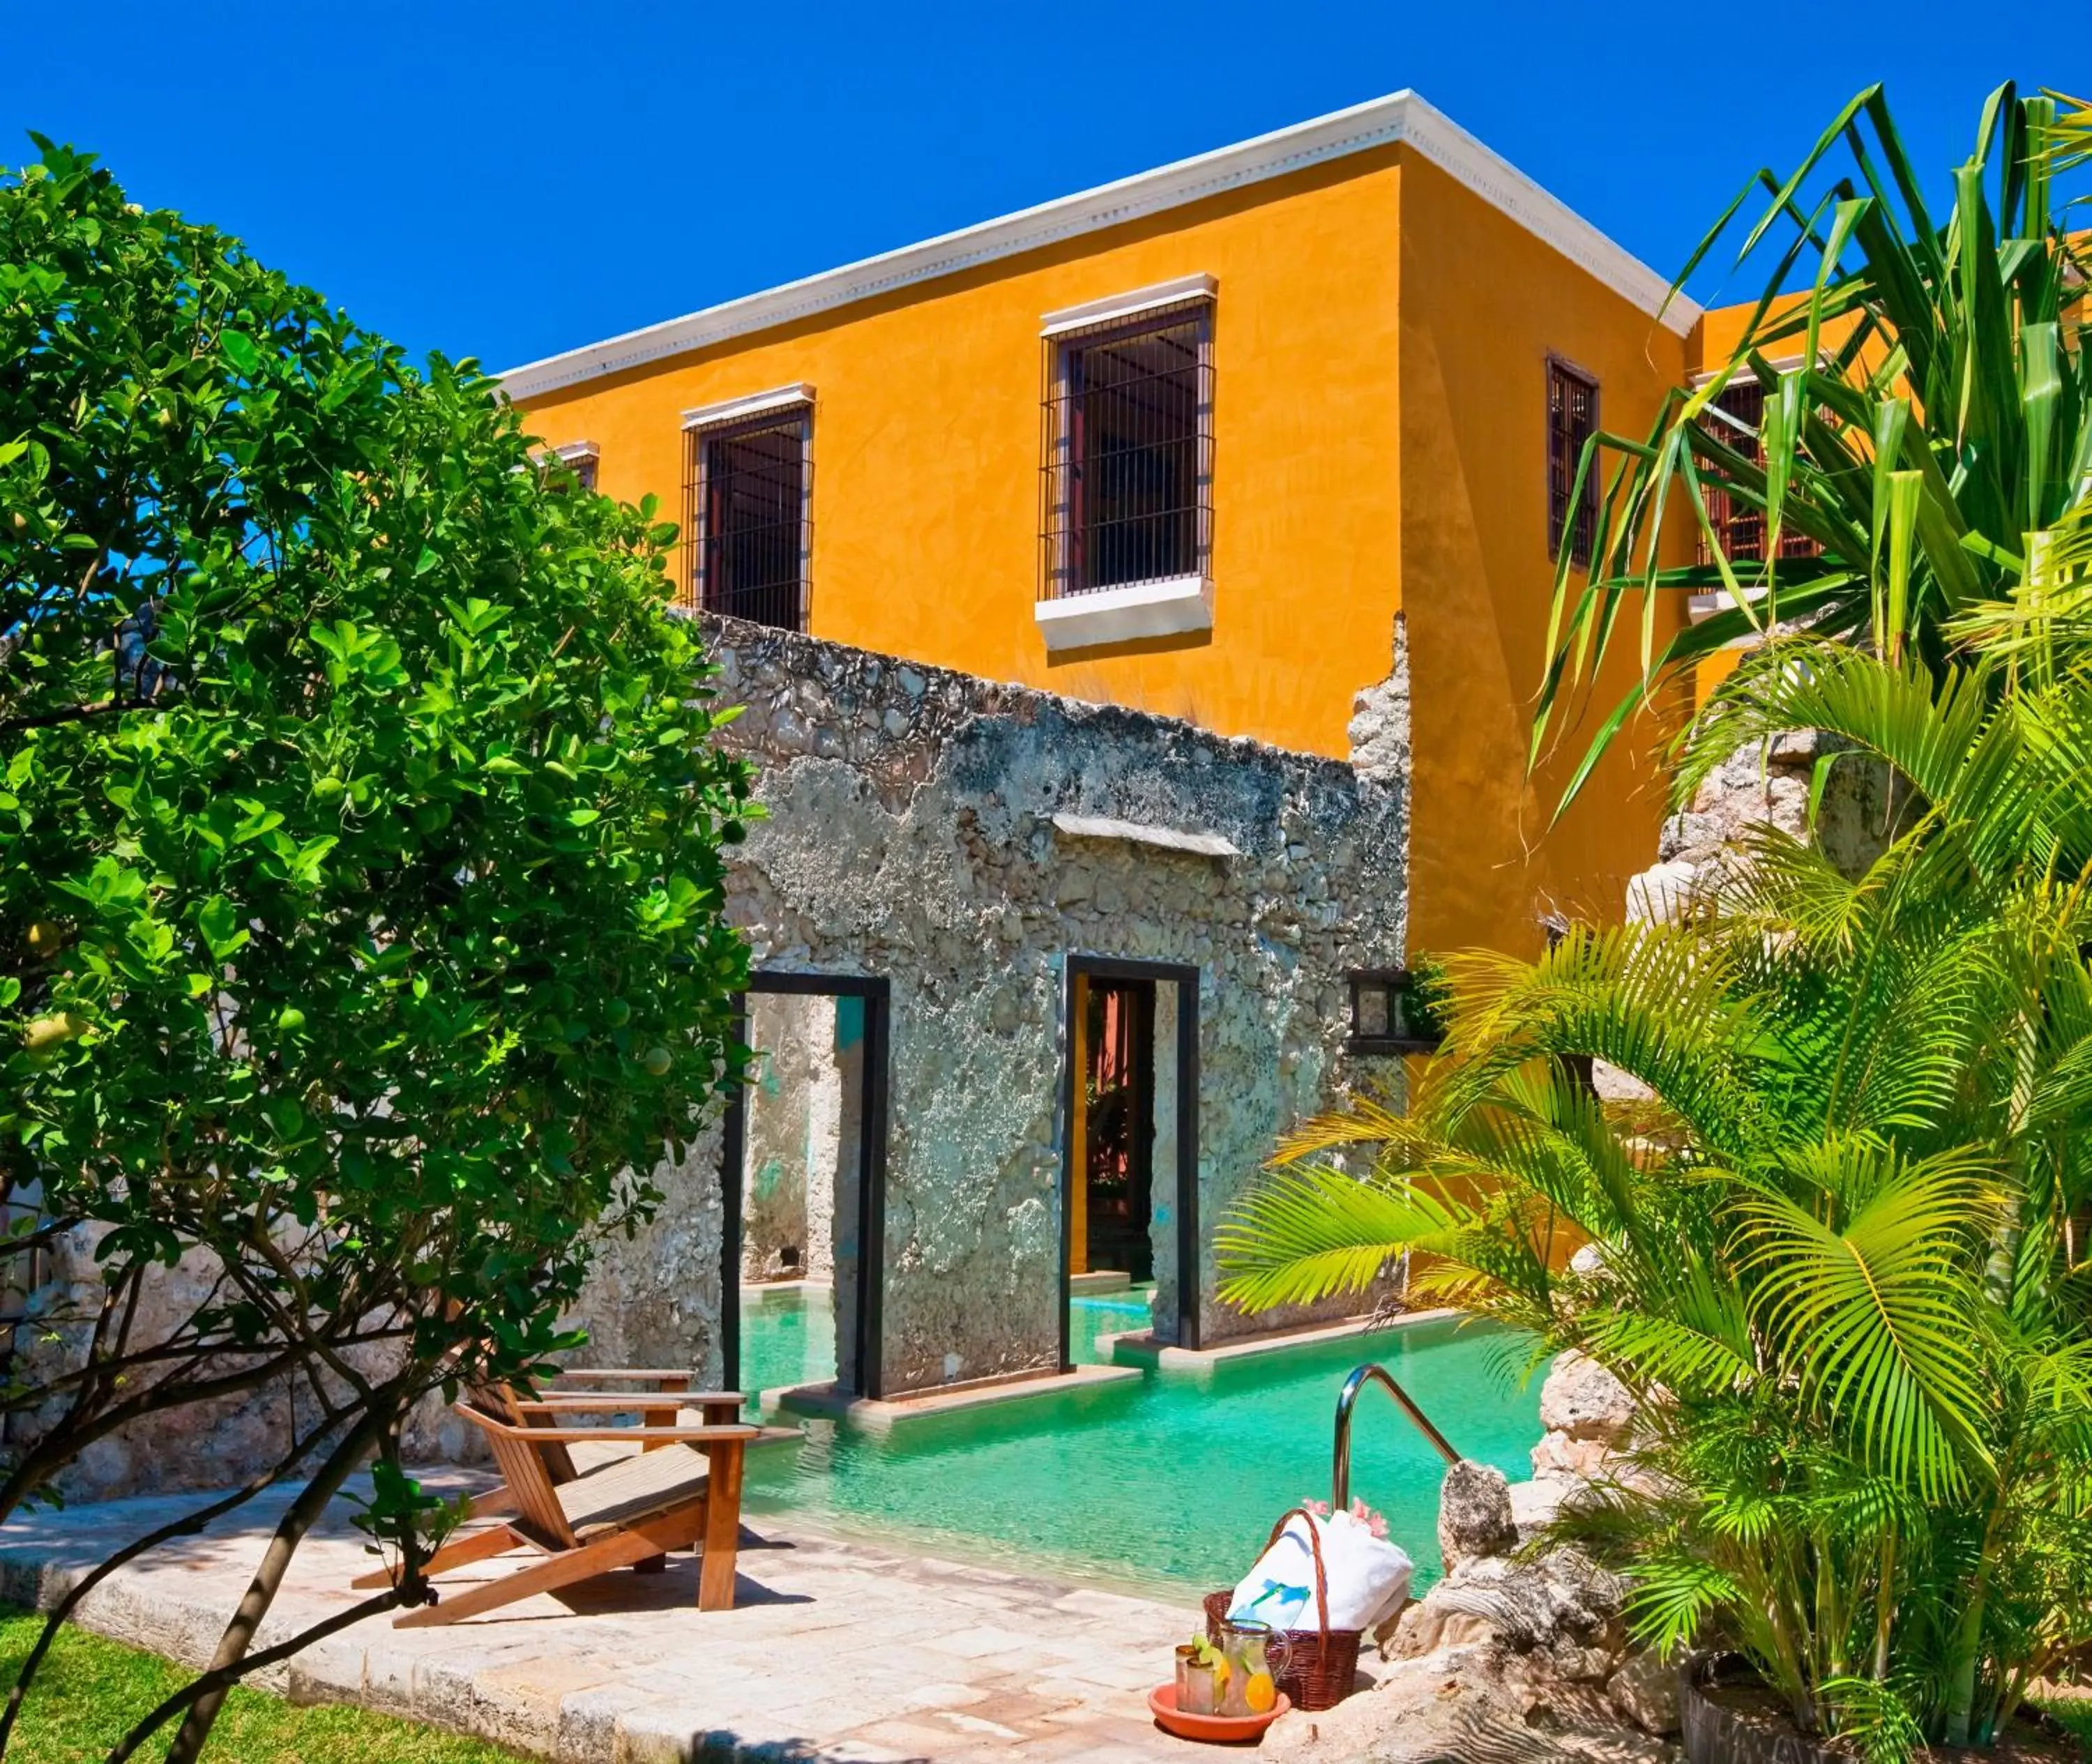
M 1220 282 L 1213 630 L 1050 657 L 1031 613 L 1040 320 L 1197 272 Z M 527 414 L 546 444 L 596 442 L 602 490 L 653 492 L 680 517 L 682 412 L 812 383 L 814 634 L 1224 734 L 1347 753 L 1351 699 L 1387 676 L 1406 611 L 1412 948 L 1531 952 L 1548 908 L 1619 917 L 1663 814 L 1646 753 L 1617 753 L 1552 833 L 1569 760 L 1525 783 L 1552 592 L 1550 349 L 1594 372 L 1602 421 L 1632 431 L 1686 370 L 1672 331 L 1387 149 L 546 393 Z

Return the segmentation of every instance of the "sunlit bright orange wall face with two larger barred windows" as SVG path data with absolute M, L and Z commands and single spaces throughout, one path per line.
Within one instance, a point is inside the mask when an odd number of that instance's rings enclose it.
M 814 385 L 816 636 L 1343 755 L 1397 605 L 1393 151 L 529 402 L 682 513 L 686 408 Z M 1186 274 L 1213 320 L 1213 630 L 1048 657 L 1042 314 Z

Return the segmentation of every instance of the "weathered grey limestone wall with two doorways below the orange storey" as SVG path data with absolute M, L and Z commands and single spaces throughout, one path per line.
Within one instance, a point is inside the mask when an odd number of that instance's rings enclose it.
M 1199 967 L 1209 1245 L 1278 1132 L 1351 1080 L 1347 971 L 1402 958 L 1404 768 L 1362 776 L 1142 711 L 707 626 L 722 697 L 745 705 L 724 739 L 757 760 L 768 812 L 736 854 L 730 917 L 759 967 L 893 988 L 883 1385 L 1050 1366 L 1067 954 Z M 1377 688 L 1383 751 L 1406 749 L 1400 688 Z M 1220 835 L 1238 856 L 1056 829 L 1056 814 Z M 638 1350 L 642 1331 L 646 1358 L 718 1369 L 718 1218 L 692 1172 L 659 1226 L 605 1245 L 582 1314 L 598 1343 L 621 1333 Z M 690 1260 L 705 1241 L 709 1272 Z M 1207 1341 L 1270 1327 L 1213 1299 L 1211 1247 L 1197 1279 Z M 640 1291 L 657 1299 L 644 1325 Z

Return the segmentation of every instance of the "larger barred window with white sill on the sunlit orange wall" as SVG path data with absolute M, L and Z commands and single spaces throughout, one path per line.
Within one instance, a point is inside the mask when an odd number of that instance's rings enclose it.
M 1046 339 L 1040 598 L 1207 575 L 1211 303 Z

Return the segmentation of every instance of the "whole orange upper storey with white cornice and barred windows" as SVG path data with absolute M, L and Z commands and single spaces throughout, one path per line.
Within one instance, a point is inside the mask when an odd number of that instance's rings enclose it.
M 1402 92 L 504 385 L 692 605 L 1335 757 L 1400 619 L 1410 944 L 1531 952 L 1655 856 L 1648 741 L 1546 837 L 1525 741 L 1565 460 L 1695 368 L 1663 295 Z

